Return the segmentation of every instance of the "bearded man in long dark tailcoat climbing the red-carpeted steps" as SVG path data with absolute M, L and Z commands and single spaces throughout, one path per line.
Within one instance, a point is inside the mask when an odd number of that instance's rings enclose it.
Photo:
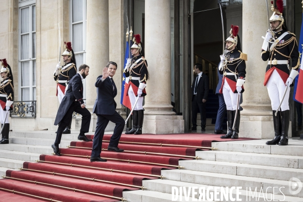
M 61 142 L 62 132 L 72 119 L 73 112 L 82 115 L 82 123 L 79 140 L 92 141 L 87 139 L 84 133 L 88 132 L 90 124 L 90 112 L 85 108 L 83 101 L 83 83 L 82 79 L 88 75 L 89 67 L 85 64 L 81 65 L 78 69 L 78 73 L 68 82 L 68 88 L 62 102 L 59 106 L 57 116 L 55 119 L 55 125 L 59 124 L 57 130 L 57 136 L 55 143 L 52 144 L 54 153 L 60 156 L 59 144 Z

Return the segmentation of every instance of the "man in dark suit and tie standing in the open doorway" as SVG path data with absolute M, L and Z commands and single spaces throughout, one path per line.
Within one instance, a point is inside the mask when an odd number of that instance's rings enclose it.
M 205 131 L 206 111 L 205 103 L 208 99 L 210 79 L 202 72 L 202 65 L 196 63 L 193 68 L 197 76 L 193 79 L 191 85 L 191 112 L 192 112 L 192 128 L 191 131 L 197 131 L 197 113 L 201 115 L 201 132 Z

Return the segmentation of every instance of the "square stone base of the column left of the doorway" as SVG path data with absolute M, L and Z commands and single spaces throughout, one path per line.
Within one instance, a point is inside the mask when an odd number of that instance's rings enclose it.
M 184 133 L 183 116 L 144 115 L 144 134 Z

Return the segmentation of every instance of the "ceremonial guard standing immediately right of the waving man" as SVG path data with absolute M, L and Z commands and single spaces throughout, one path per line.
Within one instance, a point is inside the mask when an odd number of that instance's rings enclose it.
M 145 60 L 140 34 L 134 34 L 134 44 L 130 47 L 132 59 L 127 60 L 124 70 L 125 77 L 128 81 L 126 85 L 127 96 L 129 96 L 132 112 L 132 129 L 125 134 L 142 134 L 143 125 L 143 97 L 146 95 L 145 87 L 148 79 L 147 61 Z M 128 80 L 129 79 L 129 80 Z M 135 105 L 136 99 L 138 102 Z

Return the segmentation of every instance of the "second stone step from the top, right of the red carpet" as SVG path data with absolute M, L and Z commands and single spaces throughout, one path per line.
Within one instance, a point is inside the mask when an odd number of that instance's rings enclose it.
M 303 168 L 303 157 L 271 154 L 244 153 L 237 151 L 196 151 L 203 160 L 252 164 L 284 168 Z

